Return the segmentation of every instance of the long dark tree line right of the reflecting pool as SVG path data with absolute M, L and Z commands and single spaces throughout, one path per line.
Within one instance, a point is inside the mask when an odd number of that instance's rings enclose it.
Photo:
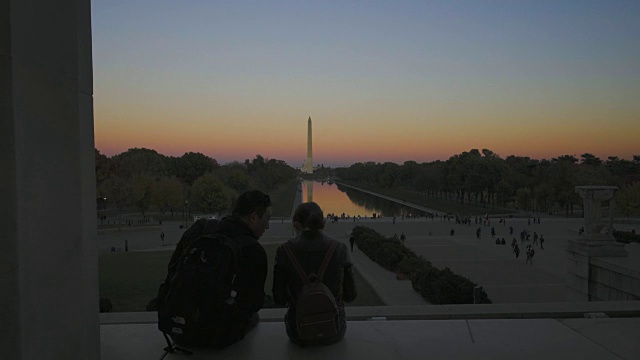
M 513 206 L 567 216 L 582 204 L 576 186 L 613 185 L 624 216 L 640 215 L 640 155 L 633 160 L 585 153 L 551 160 L 472 149 L 446 161 L 403 164 L 360 162 L 335 169 L 336 176 L 384 189 L 401 189 L 481 206 Z

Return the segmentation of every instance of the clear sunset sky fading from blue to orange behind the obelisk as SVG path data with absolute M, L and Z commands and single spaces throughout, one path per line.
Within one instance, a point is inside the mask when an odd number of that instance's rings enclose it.
M 640 155 L 640 1 L 94 0 L 96 148 Z

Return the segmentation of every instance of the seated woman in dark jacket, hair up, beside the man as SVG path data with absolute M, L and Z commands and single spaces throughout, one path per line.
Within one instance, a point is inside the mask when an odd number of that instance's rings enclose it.
M 353 264 L 347 246 L 324 235 L 324 224 L 325 218 L 318 204 L 301 204 L 293 215 L 293 227 L 297 236 L 281 245 L 276 253 L 273 299 L 276 304 L 289 307 L 285 315 L 287 335 L 291 341 L 301 346 L 329 345 L 342 339 L 347 330 L 344 302 L 353 301 L 357 295 Z M 329 257 L 325 261 L 327 256 Z M 296 262 L 299 268 L 296 268 Z M 322 276 L 320 270 L 325 262 L 326 270 Z M 312 274 L 318 275 L 321 283 L 326 285 L 335 298 L 335 333 L 328 337 L 320 335 L 318 340 L 310 340 L 306 334 L 300 334 L 300 321 L 296 319 L 296 314 L 300 311 L 296 310 L 303 306 L 298 301 L 304 285 L 301 273 L 311 275 L 312 278 Z

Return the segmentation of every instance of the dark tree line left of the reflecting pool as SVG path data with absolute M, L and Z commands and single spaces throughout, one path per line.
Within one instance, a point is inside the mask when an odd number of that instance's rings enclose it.
M 151 209 L 162 214 L 182 211 L 222 213 L 243 191 L 265 192 L 296 177 L 296 169 L 282 160 L 256 155 L 244 163 L 220 165 L 202 153 L 180 157 L 133 148 L 107 157 L 95 149 L 98 208 L 112 206 L 119 213 L 134 206 L 143 216 Z

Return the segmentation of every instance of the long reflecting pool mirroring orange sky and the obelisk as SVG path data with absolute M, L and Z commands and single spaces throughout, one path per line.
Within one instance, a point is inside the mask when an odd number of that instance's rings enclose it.
M 327 182 L 304 180 L 302 182 L 302 198 L 314 201 L 324 211 L 340 216 L 367 216 L 382 214 L 384 217 L 424 216 L 425 213 L 406 207 L 393 201 L 374 195 Z

